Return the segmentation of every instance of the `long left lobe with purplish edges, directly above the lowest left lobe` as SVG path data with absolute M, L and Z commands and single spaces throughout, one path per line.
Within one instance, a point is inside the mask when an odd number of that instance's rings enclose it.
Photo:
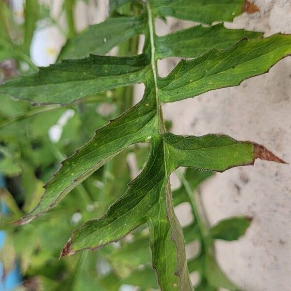
M 40 203 L 18 223 L 28 223 L 54 207 L 70 190 L 127 146 L 146 142 L 156 123 L 155 111 L 142 100 L 135 107 L 98 129 L 93 139 L 81 147 L 46 184 Z M 149 104 L 149 103 L 146 103 Z

